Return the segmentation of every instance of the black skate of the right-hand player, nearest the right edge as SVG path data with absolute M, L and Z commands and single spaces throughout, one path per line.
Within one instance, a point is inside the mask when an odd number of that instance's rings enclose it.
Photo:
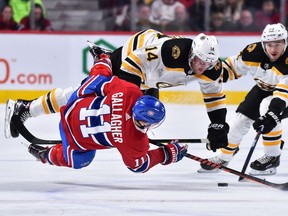
M 276 167 L 280 165 L 279 156 L 263 155 L 261 158 L 253 161 L 250 164 L 252 168 L 249 172 L 250 175 L 274 175 L 277 173 Z

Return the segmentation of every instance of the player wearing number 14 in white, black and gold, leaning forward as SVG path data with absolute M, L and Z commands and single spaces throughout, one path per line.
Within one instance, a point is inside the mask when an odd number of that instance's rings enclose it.
M 91 53 L 97 56 L 101 48 L 92 46 Z M 123 47 L 110 54 L 113 75 L 135 83 L 142 90 L 161 89 L 189 82 L 200 84 L 211 124 L 208 128 L 209 150 L 225 147 L 228 144 L 226 123 L 226 98 L 222 90 L 222 65 L 219 59 L 219 44 L 215 36 L 203 33 L 193 40 L 178 36 L 167 36 L 159 31 L 148 29 L 133 35 Z M 90 71 L 90 76 L 97 72 Z M 17 137 L 19 133 L 10 125 L 11 115 L 22 113 L 27 117 L 58 112 L 66 104 L 73 88 L 56 88 L 33 101 L 8 101 L 5 133 L 6 137 Z M 14 110 L 15 109 L 15 110 Z M 9 114 L 10 113 L 10 114 Z M 11 128 L 10 128 L 11 126 Z

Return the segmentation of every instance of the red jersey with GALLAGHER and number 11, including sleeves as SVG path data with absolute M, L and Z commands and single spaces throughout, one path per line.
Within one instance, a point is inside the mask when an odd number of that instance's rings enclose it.
M 70 148 L 116 147 L 126 166 L 135 172 L 145 172 L 159 163 L 161 152 L 148 153 L 148 137 L 133 123 L 132 107 L 140 96 L 136 85 L 118 77 L 88 77 L 61 108 L 60 124 Z M 154 157 L 152 162 L 150 157 Z

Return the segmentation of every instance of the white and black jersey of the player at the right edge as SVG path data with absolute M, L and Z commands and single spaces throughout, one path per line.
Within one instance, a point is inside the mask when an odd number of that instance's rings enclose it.
M 228 57 L 223 62 L 224 82 L 251 75 L 259 88 L 273 91 L 288 104 L 288 51 L 275 62 L 271 62 L 264 52 L 261 42 L 249 44 L 237 56 Z

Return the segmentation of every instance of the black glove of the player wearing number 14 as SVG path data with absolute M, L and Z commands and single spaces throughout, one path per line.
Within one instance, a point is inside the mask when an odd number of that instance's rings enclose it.
M 208 127 L 207 136 L 210 143 L 206 144 L 206 148 L 213 152 L 216 152 L 219 148 L 225 148 L 228 145 L 228 132 L 229 125 L 227 123 L 211 123 Z

